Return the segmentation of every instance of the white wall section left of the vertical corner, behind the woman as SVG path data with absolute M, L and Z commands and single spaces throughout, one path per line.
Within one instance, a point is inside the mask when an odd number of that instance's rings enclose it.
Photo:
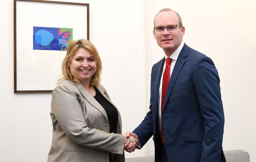
M 90 41 L 102 59 L 102 84 L 120 110 L 123 132 L 132 131 L 145 114 L 144 3 L 142 0 L 68 2 L 90 4 Z M 52 142 L 51 94 L 13 93 L 13 1 L 3 1 L 0 13 L 0 161 L 45 162 Z M 126 157 L 144 156 L 145 150 L 146 147 Z

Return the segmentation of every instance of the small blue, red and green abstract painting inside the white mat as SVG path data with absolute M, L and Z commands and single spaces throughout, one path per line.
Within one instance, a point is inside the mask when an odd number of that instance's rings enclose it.
M 33 50 L 68 49 L 73 40 L 73 29 L 33 26 Z

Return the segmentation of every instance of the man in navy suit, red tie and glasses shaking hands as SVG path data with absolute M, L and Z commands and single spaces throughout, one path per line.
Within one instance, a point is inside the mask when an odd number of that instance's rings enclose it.
M 210 58 L 182 42 L 184 33 L 178 13 L 158 12 L 153 34 L 165 58 L 152 67 L 150 111 L 126 136 L 143 147 L 153 135 L 156 162 L 226 162 L 218 72 Z

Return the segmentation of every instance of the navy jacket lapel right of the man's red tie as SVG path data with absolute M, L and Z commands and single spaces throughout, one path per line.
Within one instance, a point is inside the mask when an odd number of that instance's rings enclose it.
M 170 97 L 170 94 L 172 93 L 173 86 L 180 74 L 180 71 L 186 62 L 186 57 L 188 56 L 188 50 L 189 50 L 188 46 L 186 44 L 184 44 L 184 46 L 183 46 L 182 50 L 180 51 L 180 54 L 177 58 L 177 61 L 175 63 L 175 66 L 174 66 L 174 69 L 172 71 L 172 75 L 170 78 L 170 82 L 169 82 L 167 90 L 166 90 L 166 96 L 164 98 L 164 108 L 165 108 L 168 98 Z

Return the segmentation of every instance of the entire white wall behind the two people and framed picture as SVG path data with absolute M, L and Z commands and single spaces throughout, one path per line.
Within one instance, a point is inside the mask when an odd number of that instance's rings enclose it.
M 164 56 L 153 38 L 153 19 L 169 7 L 182 16 L 184 42 L 210 56 L 218 69 L 226 118 L 224 150 L 243 149 L 256 160 L 254 1 L 68 2 L 90 4 L 90 40 L 102 58 L 102 84 L 121 112 L 123 132 L 133 130 L 148 111 L 151 67 Z M 51 94 L 13 93 L 13 1 L 5 0 L 1 7 L 0 161 L 45 162 L 52 140 Z M 152 154 L 150 140 L 126 157 Z

